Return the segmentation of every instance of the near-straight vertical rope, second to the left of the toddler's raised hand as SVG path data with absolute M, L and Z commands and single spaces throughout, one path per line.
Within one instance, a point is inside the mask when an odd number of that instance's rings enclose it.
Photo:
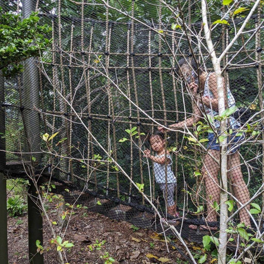
M 131 24 L 128 24 L 128 32 L 127 32 L 127 55 L 126 55 L 126 66 L 129 67 L 129 38 L 130 38 L 130 30 L 131 30 Z M 126 78 L 128 82 L 128 98 L 129 98 L 129 116 L 132 116 L 132 110 L 131 110 L 131 93 L 130 93 L 130 82 L 129 82 L 129 69 L 126 70 Z M 131 118 L 129 119 L 129 129 L 132 129 L 132 123 Z M 132 136 L 130 135 L 130 178 L 133 180 L 133 143 L 132 143 Z M 131 201 L 131 192 L 132 192 L 132 183 L 129 182 L 129 202 Z

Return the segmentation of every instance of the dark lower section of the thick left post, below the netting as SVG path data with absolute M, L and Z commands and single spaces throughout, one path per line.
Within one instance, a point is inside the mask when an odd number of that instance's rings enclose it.
M 29 229 L 29 263 L 44 264 L 43 254 L 37 252 L 36 241 L 40 240 L 40 245 L 43 246 L 43 223 L 42 215 L 39 207 L 39 200 L 36 194 L 36 188 L 32 181 L 27 195 L 27 217 Z

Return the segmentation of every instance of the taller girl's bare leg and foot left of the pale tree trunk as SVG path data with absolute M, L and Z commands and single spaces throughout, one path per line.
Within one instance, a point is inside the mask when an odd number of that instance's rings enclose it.
M 209 150 L 211 155 L 215 157 L 216 160 L 219 160 L 219 150 Z M 206 221 L 215 222 L 216 221 L 216 211 L 213 209 L 213 203 L 216 201 L 218 204 L 220 203 L 220 188 L 217 186 L 218 184 L 218 171 L 219 164 L 214 161 L 214 159 L 206 154 L 204 158 L 204 165 L 202 166 L 202 175 L 204 177 L 205 183 L 205 192 L 206 192 L 206 203 L 207 203 L 207 216 Z M 196 229 L 195 225 L 189 225 L 190 228 Z M 202 225 L 202 228 L 206 228 L 206 226 Z M 211 228 L 212 230 L 216 228 Z

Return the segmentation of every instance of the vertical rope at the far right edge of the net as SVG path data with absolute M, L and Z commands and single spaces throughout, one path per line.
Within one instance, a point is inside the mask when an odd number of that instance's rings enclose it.
M 257 28 L 260 25 L 260 20 L 261 20 L 261 7 L 260 4 L 258 4 L 258 11 L 257 11 L 257 19 L 255 20 L 255 28 Z M 255 36 L 255 47 L 257 50 L 257 47 L 261 45 L 261 39 L 260 39 L 260 30 L 257 31 L 256 36 Z M 261 60 L 261 53 L 258 53 L 257 51 L 255 52 L 255 58 L 257 61 Z M 258 83 L 258 92 L 259 92 L 259 103 L 260 103 L 260 110 L 263 110 L 263 96 L 262 96 L 262 75 L 261 75 L 261 64 L 259 63 L 258 68 L 256 69 L 257 71 L 257 83 Z M 262 119 L 262 126 L 264 125 L 264 114 L 261 112 L 260 114 L 261 119 Z M 262 131 L 262 140 L 264 139 L 264 131 Z M 264 152 L 264 143 L 262 143 L 262 153 Z M 263 162 L 263 157 L 262 157 L 262 183 L 264 182 L 264 162 Z M 262 202 L 264 203 L 264 194 L 262 195 Z

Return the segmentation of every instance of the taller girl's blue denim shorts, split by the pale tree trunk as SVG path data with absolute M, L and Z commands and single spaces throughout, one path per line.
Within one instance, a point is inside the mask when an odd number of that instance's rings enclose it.
M 237 129 L 239 127 L 236 126 L 235 128 Z M 237 132 L 233 132 L 231 135 L 227 136 L 227 154 L 235 153 L 241 146 L 241 142 L 243 142 L 243 140 L 245 139 L 245 133 L 243 133 L 241 136 L 236 136 L 236 134 Z M 216 143 L 216 137 L 214 133 L 208 133 L 208 140 L 208 149 L 215 149 L 220 151 L 219 143 Z

